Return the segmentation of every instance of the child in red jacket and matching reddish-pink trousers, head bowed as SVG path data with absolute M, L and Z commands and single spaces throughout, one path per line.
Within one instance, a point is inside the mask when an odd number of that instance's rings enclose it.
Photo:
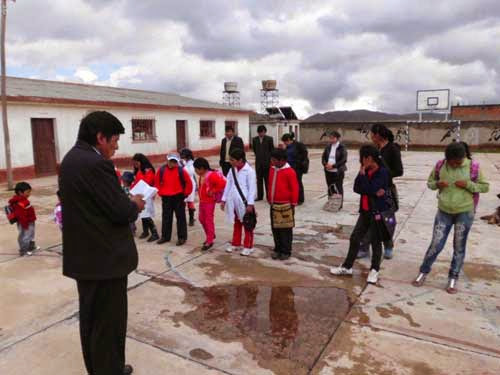
M 197 158 L 193 164 L 198 180 L 198 194 L 200 198 L 199 220 L 205 231 L 206 240 L 201 250 L 210 249 L 215 240 L 214 212 L 215 204 L 220 202 L 226 187 L 224 175 L 210 168 L 207 159 Z

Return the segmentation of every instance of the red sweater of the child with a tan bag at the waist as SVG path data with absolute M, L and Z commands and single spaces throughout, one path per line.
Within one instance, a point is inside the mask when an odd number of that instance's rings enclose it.
M 267 199 L 273 203 L 291 203 L 297 205 L 299 201 L 299 182 L 297 181 L 297 174 L 295 170 L 288 164 L 277 170 L 271 167 L 269 169 L 269 178 L 267 185 Z M 278 173 L 276 177 L 276 187 L 274 188 L 274 197 L 271 197 L 271 190 L 273 187 L 274 174 Z M 273 198 L 273 199 L 271 199 Z

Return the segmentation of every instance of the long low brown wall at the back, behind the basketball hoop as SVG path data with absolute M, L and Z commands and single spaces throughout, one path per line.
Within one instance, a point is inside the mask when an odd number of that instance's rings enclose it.
M 395 141 L 406 144 L 406 122 L 389 123 Z M 371 142 L 370 126 L 363 123 L 336 124 L 301 124 L 302 142 L 308 145 L 324 145 L 328 142 L 325 133 L 337 130 L 342 142 L 347 145 L 360 145 Z M 410 147 L 440 147 L 453 139 L 460 139 L 472 147 L 488 147 L 500 149 L 500 121 L 462 121 L 460 130 L 453 123 L 411 123 L 408 125 Z M 321 137 L 323 138 L 321 139 Z

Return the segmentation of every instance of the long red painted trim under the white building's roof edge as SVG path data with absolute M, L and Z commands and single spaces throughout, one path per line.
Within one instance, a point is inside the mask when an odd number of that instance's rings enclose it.
M 113 102 L 105 100 L 80 100 L 80 99 L 63 99 L 63 98 L 45 98 L 39 96 L 7 96 L 7 101 L 11 103 L 27 103 L 27 104 L 60 104 L 60 105 L 83 105 L 83 106 L 99 106 L 99 107 L 115 107 L 115 108 L 131 108 L 131 109 L 161 109 L 178 112 L 210 112 L 210 113 L 231 113 L 250 115 L 253 111 L 243 109 L 222 109 L 222 108 L 203 108 L 203 107 L 183 107 L 178 105 L 162 105 L 162 104 L 147 104 L 147 103 L 126 103 Z

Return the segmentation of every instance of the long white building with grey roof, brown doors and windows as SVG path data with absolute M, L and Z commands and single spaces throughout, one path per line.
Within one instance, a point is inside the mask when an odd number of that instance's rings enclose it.
M 7 78 L 7 101 L 14 178 L 57 173 L 74 145 L 81 119 L 106 110 L 124 125 L 115 163 L 130 165 L 140 152 L 153 162 L 189 147 L 197 155 L 219 151 L 226 124 L 249 142 L 251 111 L 175 94 L 96 85 Z M 5 150 L 0 132 L 0 180 L 5 180 Z

